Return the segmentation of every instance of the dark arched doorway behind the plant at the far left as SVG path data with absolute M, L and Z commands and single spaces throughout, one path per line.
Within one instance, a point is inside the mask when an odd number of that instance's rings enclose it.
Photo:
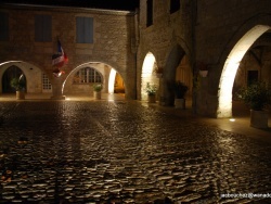
M 7 68 L 2 76 L 2 92 L 14 93 L 16 90 L 11 87 L 11 80 L 13 78 L 18 78 L 22 74 L 24 74 L 23 71 L 15 65 L 12 65 Z

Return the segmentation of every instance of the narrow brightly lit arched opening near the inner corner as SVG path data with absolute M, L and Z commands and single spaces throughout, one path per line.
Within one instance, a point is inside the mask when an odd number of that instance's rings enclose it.
M 147 94 L 145 91 L 146 84 L 155 85 L 157 88 L 159 87 L 159 78 L 157 78 L 154 74 L 154 71 L 157 68 L 155 56 L 152 52 L 149 52 L 145 55 L 142 66 L 141 73 L 141 100 L 146 100 Z M 156 94 L 156 99 L 158 99 L 158 94 Z

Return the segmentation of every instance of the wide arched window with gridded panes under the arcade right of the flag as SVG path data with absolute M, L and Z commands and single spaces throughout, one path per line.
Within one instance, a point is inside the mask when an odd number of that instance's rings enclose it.
M 102 82 L 101 74 L 92 68 L 86 67 L 79 69 L 74 76 L 74 84 Z

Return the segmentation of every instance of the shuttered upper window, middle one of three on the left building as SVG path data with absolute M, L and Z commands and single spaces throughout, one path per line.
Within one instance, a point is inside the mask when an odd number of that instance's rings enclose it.
M 50 15 L 35 16 L 35 41 L 37 42 L 52 41 L 52 16 Z

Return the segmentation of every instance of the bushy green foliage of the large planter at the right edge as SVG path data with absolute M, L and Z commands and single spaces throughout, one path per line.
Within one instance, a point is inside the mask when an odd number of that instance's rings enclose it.
M 262 111 L 271 103 L 271 89 L 266 82 L 257 81 L 247 88 L 242 88 L 237 97 L 251 110 Z

